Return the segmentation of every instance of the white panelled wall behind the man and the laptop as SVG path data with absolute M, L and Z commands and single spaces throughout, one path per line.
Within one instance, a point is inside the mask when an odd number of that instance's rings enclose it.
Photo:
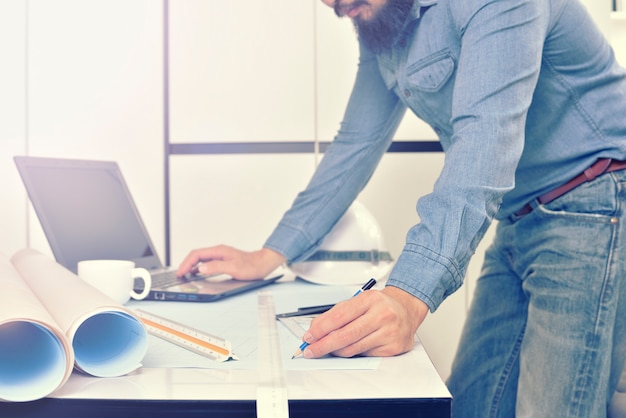
M 585 2 L 625 62 L 626 23 L 608 20 L 610 0 Z M 164 255 L 162 20 L 163 3 L 155 0 L 0 2 L 0 253 L 27 245 L 49 251 L 11 160 L 30 154 L 117 160 Z M 171 0 L 169 23 L 173 143 L 332 139 L 357 51 L 351 24 L 319 0 Z M 396 140 L 434 138 L 407 117 Z M 199 246 L 258 247 L 317 160 L 172 157 L 173 263 Z M 442 164 L 436 153 L 387 154 L 364 190 L 360 199 L 394 255 Z M 488 241 L 467 286 L 420 331 L 443 377 Z

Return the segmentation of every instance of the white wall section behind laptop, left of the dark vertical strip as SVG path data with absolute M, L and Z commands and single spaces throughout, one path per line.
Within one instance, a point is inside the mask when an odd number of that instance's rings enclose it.
M 0 3 L 0 16 L 0 252 L 49 252 L 18 154 L 119 161 L 162 248 L 160 3 L 22 0 Z

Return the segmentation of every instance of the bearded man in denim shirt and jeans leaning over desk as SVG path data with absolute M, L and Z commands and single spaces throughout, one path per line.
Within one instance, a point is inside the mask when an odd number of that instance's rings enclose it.
M 263 249 L 196 250 L 179 272 L 245 280 L 306 259 L 408 107 L 438 133 L 443 170 L 386 287 L 313 321 L 305 357 L 410 350 L 497 219 L 449 380 L 454 416 L 605 416 L 626 350 L 626 75 L 584 7 L 323 2 L 353 20 L 361 53 L 333 144 Z

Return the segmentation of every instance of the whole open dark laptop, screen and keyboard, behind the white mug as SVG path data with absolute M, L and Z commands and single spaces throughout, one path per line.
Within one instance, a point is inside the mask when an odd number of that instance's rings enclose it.
M 74 273 L 81 260 L 131 260 L 152 276 L 144 300 L 187 302 L 220 300 L 281 277 L 178 278 L 159 259 L 116 162 L 29 156 L 14 161 L 56 261 Z

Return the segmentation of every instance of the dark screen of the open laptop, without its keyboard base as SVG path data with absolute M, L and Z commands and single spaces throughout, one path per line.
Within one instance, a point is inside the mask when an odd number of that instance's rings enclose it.
M 15 157 L 57 262 L 76 272 L 80 260 L 132 260 L 161 268 L 154 246 L 115 162 Z

